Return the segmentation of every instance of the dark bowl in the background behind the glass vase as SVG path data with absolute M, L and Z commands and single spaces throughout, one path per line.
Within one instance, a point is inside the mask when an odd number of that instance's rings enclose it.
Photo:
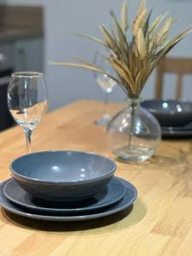
M 192 121 L 192 102 L 148 100 L 141 105 L 154 114 L 161 126 L 182 126 Z

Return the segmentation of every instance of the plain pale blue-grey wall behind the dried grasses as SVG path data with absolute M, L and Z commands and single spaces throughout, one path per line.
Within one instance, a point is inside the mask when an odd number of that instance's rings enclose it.
M 9 4 L 44 5 L 45 8 L 45 72 L 47 73 L 50 105 L 58 108 L 79 98 L 102 99 L 102 90 L 96 85 L 91 73 L 70 67 L 52 67 L 49 60 L 72 61 L 72 56 L 82 56 L 92 60 L 93 53 L 98 47 L 89 40 L 76 37 L 76 32 L 100 36 L 97 28 L 102 21 L 109 25 L 108 10 L 113 9 L 119 14 L 119 0 L 7 0 Z M 131 19 L 137 10 L 138 1 L 128 0 Z M 148 7 L 154 8 L 154 15 L 169 11 L 178 17 L 177 26 L 173 32 L 192 24 L 192 1 L 189 0 L 148 0 Z M 170 55 L 192 57 L 192 34 L 172 50 Z M 184 97 L 192 100 L 191 79 L 185 79 Z M 166 82 L 166 97 L 173 94 L 169 77 Z M 148 80 L 143 90 L 143 98 L 154 95 L 154 74 Z M 119 101 L 124 95 L 118 88 L 114 90 L 111 99 Z

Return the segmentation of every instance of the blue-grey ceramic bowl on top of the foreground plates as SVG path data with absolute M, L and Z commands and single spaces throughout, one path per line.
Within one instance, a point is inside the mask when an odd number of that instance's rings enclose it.
M 105 189 L 116 164 L 99 154 L 44 151 L 14 160 L 10 170 L 30 195 L 46 201 L 81 201 Z

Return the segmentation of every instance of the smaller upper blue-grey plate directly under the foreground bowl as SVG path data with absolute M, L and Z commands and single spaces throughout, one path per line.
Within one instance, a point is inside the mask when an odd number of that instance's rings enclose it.
M 113 177 L 108 183 L 107 189 L 96 194 L 94 197 L 81 201 L 72 203 L 61 203 L 61 202 L 50 202 L 50 201 L 40 201 L 32 198 L 24 189 L 20 187 L 18 183 L 15 182 L 14 178 L 10 178 L 4 185 L 3 188 L 4 195 L 9 199 L 9 201 L 14 202 L 21 207 L 26 207 L 32 210 L 40 212 L 64 212 L 64 213 L 77 213 L 77 212 L 87 212 L 96 211 L 102 207 L 108 207 L 117 201 L 121 200 L 125 195 L 125 186 L 118 178 Z

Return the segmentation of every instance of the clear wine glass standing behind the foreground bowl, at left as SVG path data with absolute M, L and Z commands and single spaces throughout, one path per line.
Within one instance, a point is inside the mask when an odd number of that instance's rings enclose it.
M 32 152 L 32 131 L 48 109 L 48 93 L 44 73 L 17 72 L 8 87 L 9 111 L 26 134 L 26 150 Z

